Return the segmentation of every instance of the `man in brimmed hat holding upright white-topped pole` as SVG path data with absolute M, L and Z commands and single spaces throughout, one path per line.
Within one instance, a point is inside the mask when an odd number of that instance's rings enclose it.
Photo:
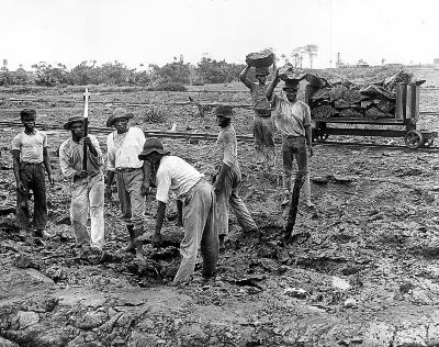
M 71 186 L 70 220 L 75 233 L 78 256 L 85 255 L 89 244 L 102 254 L 104 244 L 104 182 L 103 157 L 93 135 L 85 137 L 83 116 L 72 115 L 64 124 L 71 137 L 59 147 L 61 172 Z M 87 147 L 87 167 L 82 167 L 83 147 Z M 87 220 L 90 214 L 90 233 Z M 91 239 L 90 239 L 91 234 Z

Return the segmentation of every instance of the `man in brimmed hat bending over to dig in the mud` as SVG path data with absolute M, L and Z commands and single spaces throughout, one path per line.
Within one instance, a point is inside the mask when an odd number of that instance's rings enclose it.
M 192 275 L 200 246 L 203 257 L 203 277 L 209 279 L 213 276 L 218 259 L 213 187 L 190 164 L 177 156 L 170 156 L 158 138 L 147 138 L 138 158 L 148 161 L 157 172 L 157 221 L 151 239 L 154 247 L 161 245 L 160 231 L 166 204 L 169 203 L 169 194 L 171 193 L 182 202 L 184 230 L 184 238 L 180 244 L 182 260 L 173 282 L 177 283 Z

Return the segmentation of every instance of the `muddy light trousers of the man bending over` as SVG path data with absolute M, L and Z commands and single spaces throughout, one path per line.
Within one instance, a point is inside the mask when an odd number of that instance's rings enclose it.
M 178 282 L 192 275 L 200 248 L 203 258 L 203 277 L 214 273 L 218 261 L 219 242 L 214 227 L 215 192 L 212 184 L 201 179 L 185 195 L 183 202 L 184 237 L 180 243 L 182 256 L 173 279 Z

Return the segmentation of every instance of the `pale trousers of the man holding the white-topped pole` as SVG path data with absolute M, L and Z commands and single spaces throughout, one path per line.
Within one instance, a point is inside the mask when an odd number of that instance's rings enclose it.
M 70 219 L 78 246 L 91 244 L 102 249 L 104 244 L 104 182 L 103 175 L 86 177 L 74 182 Z M 90 214 L 90 233 L 87 220 Z M 91 236 L 91 238 L 90 238 Z

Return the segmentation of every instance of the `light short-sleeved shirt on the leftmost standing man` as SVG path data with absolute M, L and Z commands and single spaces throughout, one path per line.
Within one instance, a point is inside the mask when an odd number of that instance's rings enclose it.
M 20 161 L 32 164 L 43 163 L 44 147 L 47 147 L 47 135 L 37 130 L 31 135 L 23 131 L 11 143 L 11 149 L 20 150 Z

